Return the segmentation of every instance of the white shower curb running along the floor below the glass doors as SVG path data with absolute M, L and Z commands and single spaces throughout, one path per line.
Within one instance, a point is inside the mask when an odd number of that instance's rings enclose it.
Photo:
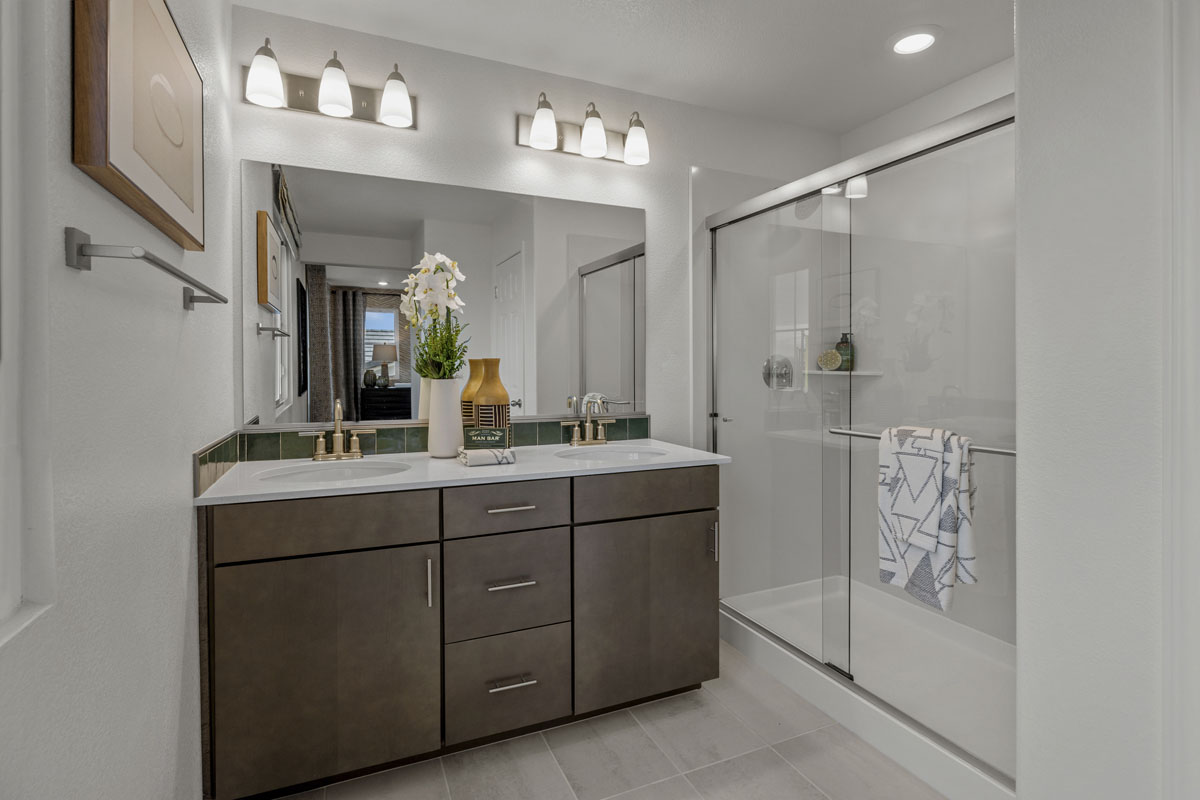
M 954 752 L 953 745 L 865 696 L 816 661 L 775 642 L 736 612 L 721 609 L 721 638 L 949 800 L 1015 800 L 1013 782 Z

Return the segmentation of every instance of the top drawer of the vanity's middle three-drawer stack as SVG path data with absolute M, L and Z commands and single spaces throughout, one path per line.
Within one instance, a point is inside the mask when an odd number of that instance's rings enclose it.
M 571 524 L 571 479 L 456 486 L 445 493 L 445 537 Z

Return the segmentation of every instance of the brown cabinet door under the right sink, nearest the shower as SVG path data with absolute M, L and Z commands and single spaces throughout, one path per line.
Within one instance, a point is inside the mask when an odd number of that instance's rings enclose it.
M 715 511 L 575 528 L 575 712 L 718 675 Z

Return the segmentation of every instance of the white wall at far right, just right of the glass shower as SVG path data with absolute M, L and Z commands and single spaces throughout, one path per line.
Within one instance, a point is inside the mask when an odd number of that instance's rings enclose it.
M 1016 4 L 1022 800 L 1163 796 L 1169 7 Z

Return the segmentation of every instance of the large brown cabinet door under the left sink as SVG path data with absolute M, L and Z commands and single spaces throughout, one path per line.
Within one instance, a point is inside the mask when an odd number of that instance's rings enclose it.
M 216 796 L 437 750 L 437 545 L 217 567 Z

